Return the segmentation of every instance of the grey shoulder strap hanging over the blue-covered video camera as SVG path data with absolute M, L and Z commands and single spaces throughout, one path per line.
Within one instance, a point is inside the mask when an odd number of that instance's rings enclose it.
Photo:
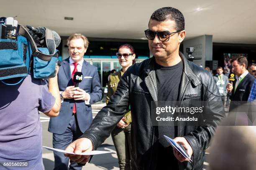
M 51 57 L 55 57 L 55 43 L 54 43 L 54 36 L 51 30 L 49 30 L 48 28 L 45 28 L 46 30 L 46 46 L 49 50 L 49 55 L 44 54 L 42 52 L 40 52 L 38 50 L 38 48 L 36 47 L 36 43 L 34 42 L 33 38 L 31 37 L 31 35 L 28 33 L 28 30 L 26 30 L 26 28 L 24 28 L 23 25 L 19 25 L 19 34 L 26 37 L 30 44 L 31 44 L 31 50 L 32 50 L 32 55 L 39 57 L 41 60 L 45 60 L 45 61 L 50 61 Z M 55 56 L 54 56 L 55 55 Z

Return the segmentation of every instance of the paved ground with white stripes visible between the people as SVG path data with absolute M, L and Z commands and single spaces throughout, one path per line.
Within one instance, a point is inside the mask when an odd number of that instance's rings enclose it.
M 93 116 L 95 116 L 99 109 L 102 108 L 104 105 L 104 103 L 94 105 L 92 107 Z M 49 117 L 45 116 L 43 113 L 41 113 L 41 123 L 43 127 L 43 146 L 52 147 L 52 133 L 49 133 L 47 131 L 49 125 Z M 92 158 L 92 161 L 90 163 L 87 163 L 82 168 L 82 170 L 119 170 L 118 159 L 111 137 L 106 139 L 105 142 L 97 150 L 111 151 L 113 153 L 95 155 Z M 54 155 L 52 151 L 43 149 L 43 162 L 45 170 L 54 169 Z M 204 165 L 204 168 L 206 168 L 208 165 L 207 158 Z

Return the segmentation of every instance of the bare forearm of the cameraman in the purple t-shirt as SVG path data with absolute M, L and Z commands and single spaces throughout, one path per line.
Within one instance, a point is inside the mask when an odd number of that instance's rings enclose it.
M 57 68 L 56 76 L 53 78 L 49 78 L 49 92 L 51 95 L 55 97 L 55 103 L 54 106 L 51 108 L 49 112 L 45 112 L 49 117 L 56 117 L 59 115 L 59 110 L 61 107 L 61 99 L 59 96 L 59 86 L 58 86 L 58 71 L 59 71 L 59 66 Z

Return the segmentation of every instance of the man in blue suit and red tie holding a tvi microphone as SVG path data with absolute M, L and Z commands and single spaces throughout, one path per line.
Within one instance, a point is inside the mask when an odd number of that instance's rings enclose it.
M 97 67 L 84 60 L 89 41 L 84 35 L 74 34 L 67 40 L 69 58 L 61 62 L 58 84 L 61 110 L 58 117 L 50 119 L 49 132 L 53 133 L 53 147 L 64 150 L 79 138 L 92 122 L 91 104 L 101 100 L 102 90 Z M 83 80 L 74 87 L 74 72 L 82 72 Z M 69 158 L 54 152 L 54 170 L 67 170 Z M 70 169 L 81 170 L 82 165 L 70 161 Z

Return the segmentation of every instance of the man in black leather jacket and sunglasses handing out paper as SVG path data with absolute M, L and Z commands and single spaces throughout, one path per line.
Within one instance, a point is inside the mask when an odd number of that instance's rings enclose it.
M 205 150 L 216 126 L 224 117 L 218 88 L 209 72 L 189 62 L 179 52 L 179 45 L 186 34 L 184 17 L 179 10 L 172 7 L 156 10 L 151 15 L 145 34 L 154 57 L 131 66 L 125 72 L 108 105 L 96 115 L 82 137 L 66 150 L 78 154 L 86 150 L 96 150 L 108 138 L 131 105 L 133 170 L 157 170 L 162 163 L 167 163 L 166 169 L 201 170 Z M 206 101 L 204 109 L 211 118 L 206 121 L 205 126 L 188 126 L 186 122 L 179 122 L 177 127 L 166 128 L 152 125 L 151 103 L 164 101 L 163 99 L 177 100 L 181 105 L 186 100 Z M 161 143 L 162 135 L 159 134 L 164 134 L 164 130 L 168 128 L 173 132 L 170 135 L 174 136 L 174 140 L 184 146 L 192 163 L 176 150 L 173 150 L 173 153 L 166 152 L 168 147 Z M 159 146 L 164 149 L 160 151 Z M 65 155 L 78 163 L 86 163 L 90 159 L 90 156 Z M 162 159 L 164 162 L 161 162 Z M 169 162 L 166 162 L 168 160 Z

